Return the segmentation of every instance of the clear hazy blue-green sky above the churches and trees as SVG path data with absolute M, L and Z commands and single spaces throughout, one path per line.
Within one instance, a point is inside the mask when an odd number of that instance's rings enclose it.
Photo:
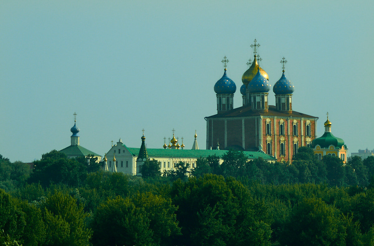
M 258 41 L 273 86 L 294 83 L 292 108 L 319 117 L 349 153 L 374 149 L 374 1 L 0 1 L 0 154 L 32 162 L 70 145 L 102 156 L 119 138 L 147 148 L 217 113 L 214 84 L 239 88 Z M 275 105 L 272 90 L 269 104 Z

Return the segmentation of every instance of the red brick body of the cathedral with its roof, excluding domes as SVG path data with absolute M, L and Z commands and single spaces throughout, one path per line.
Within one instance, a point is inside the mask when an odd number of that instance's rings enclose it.
M 262 146 L 265 153 L 274 156 L 278 161 L 291 162 L 294 147 L 307 146 L 315 139 L 317 117 L 295 111 L 281 115 L 279 112 L 272 113 L 272 110 L 267 113 L 257 113 L 255 116 L 249 116 L 248 114 L 252 113 L 248 111 L 249 113 L 246 113 L 248 116 L 240 116 L 242 111 L 235 116 L 220 114 L 206 118 L 207 149 L 210 147 L 215 149 L 217 141 L 222 150 L 234 148 L 257 151 Z M 294 127 L 295 130 L 297 129 L 295 132 Z

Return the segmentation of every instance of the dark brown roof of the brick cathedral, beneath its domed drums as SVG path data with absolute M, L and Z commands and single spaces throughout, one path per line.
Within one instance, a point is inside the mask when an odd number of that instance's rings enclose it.
M 269 105 L 268 112 L 260 112 L 258 110 L 252 110 L 250 105 L 245 105 L 239 108 L 234 108 L 233 110 L 227 111 L 226 113 L 215 114 L 206 118 L 234 118 L 234 117 L 250 117 L 250 116 L 279 116 L 279 117 L 303 117 L 303 118 L 315 118 L 318 117 L 310 116 L 307 114 L 299 113 L 292 110 L 292 113 L 286 113 L 278 111 L 273 105 Z

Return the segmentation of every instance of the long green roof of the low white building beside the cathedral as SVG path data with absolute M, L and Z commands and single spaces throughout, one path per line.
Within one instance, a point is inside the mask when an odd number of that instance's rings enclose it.
M 130 153 L 133 156 L 138 156 L 140 148 L 128 148 Z M 147 149 L 147 153 L 149 157 L 157 156 L 157 157 L 175 157 L 175 158 L 183 158 L 183 157 L 208 157 L 216 155 L 218 157 L 222 157 L 226 154 L 228 150 L 178 150 L 178 149 Z M 243 153 L 248 157 L 248 159 L 257 159 L 261 157 L 265 160 L 276 160 L 274 157 L 269 156 L 265 153 L 257 152 L 257 151 L 243 151 Z

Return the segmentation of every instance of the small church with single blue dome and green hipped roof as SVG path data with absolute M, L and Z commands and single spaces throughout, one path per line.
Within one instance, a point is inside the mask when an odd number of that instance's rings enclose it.
M 70 131 L 73 133 L 71 135 L 71 145 L 60 150 L 60 152 L 65 153 L 68 158 L 76 158 L 78 156 L 88 156 L 93 155 L 93 157 L 97 157 L 98 162 L 101 161 L 101 156 L 99 154 L 96 154 L 95 152 L 92 152 L 91 150 L 88 150 L 82 146 L 79 145 L 79 128 L 76 126 L 76 120 L 74 120 L 74 126 L 71 127 Z

